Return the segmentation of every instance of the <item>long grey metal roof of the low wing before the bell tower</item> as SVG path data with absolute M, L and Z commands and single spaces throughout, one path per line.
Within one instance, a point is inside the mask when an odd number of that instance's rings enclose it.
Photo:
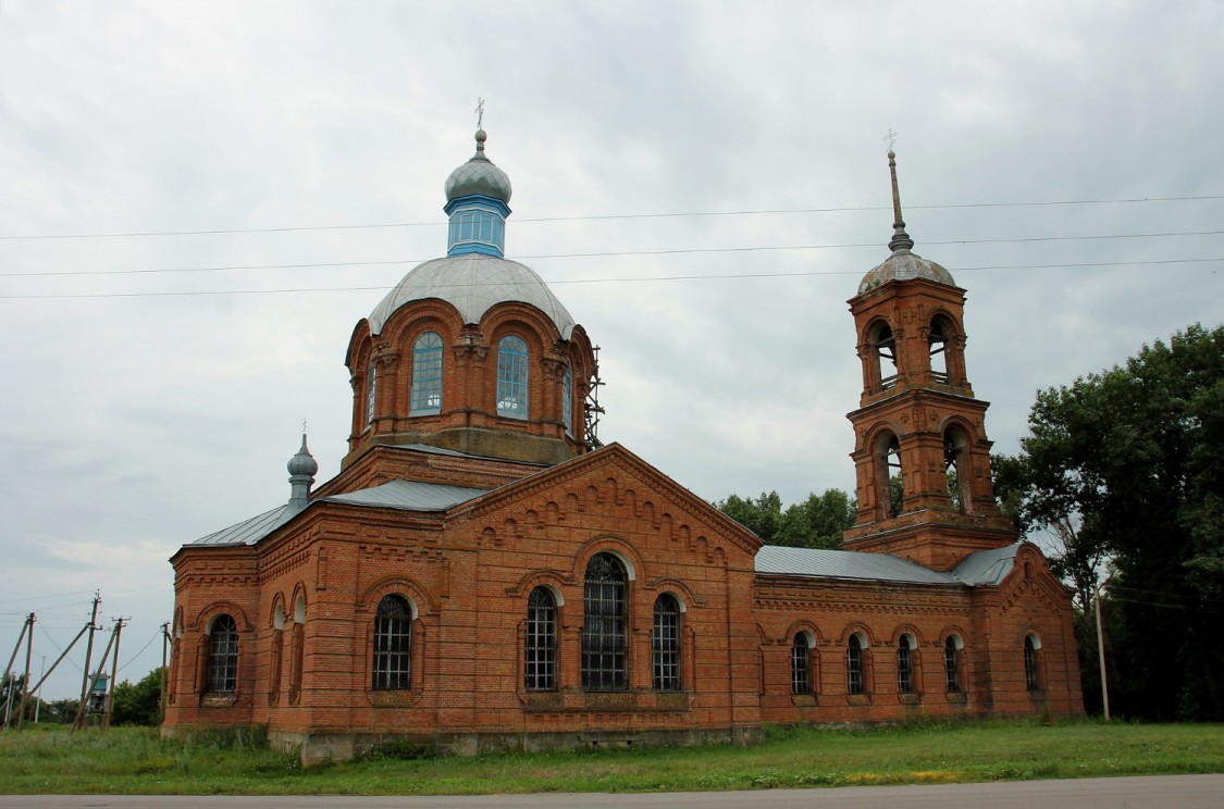
M 789 548 L 777 545 L 766 545 L 756 553 L 756 573 L 858 581 L 961 584 L 953 575 L 929 570 L 889 553 Z

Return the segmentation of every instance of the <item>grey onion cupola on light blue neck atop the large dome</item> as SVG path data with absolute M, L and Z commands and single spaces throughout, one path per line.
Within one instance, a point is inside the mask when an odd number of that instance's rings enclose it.
M 476 154 L 447 177 L 450 217 L 447 256 L 482 253 L 506 257 L 506 218 L 510 215 L 510 179 L 485 157 L 485 130 L 476 130 Z

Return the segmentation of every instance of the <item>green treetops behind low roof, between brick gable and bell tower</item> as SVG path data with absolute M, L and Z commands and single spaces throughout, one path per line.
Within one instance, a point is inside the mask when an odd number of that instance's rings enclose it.
M 763 492 L 755 499 L 731 494 L 715 508 L 756 534 L 766 545 L 803 548 L 837 548 L 841 535 L 854 524 L 854 501 L 836 488 L 808 494 L 800 503 L 782 510 L 777 492 Z

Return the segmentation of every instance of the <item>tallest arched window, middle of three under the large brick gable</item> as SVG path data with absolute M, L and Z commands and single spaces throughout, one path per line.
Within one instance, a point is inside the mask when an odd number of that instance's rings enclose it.
M 611 553 L 586 563 L 583 587 L 583 688 L 617 692 L 629 687 L 628 576 Z

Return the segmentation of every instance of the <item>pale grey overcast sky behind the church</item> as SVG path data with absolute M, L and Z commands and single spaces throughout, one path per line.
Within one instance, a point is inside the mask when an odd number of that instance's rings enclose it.
M 705 499 L 853 488 L 890 130 L 996 450 L 1038 389 L 1224 319 L 1224 2 L 752 6 L 2 0 L 5 660 L 99 590 L 138 679 L 175 550 L 288 498 L 304 420 L 339 470 L 349 335 L 446 252 L 477 97 L 507 257 L 602 348 L 600 437 Z

